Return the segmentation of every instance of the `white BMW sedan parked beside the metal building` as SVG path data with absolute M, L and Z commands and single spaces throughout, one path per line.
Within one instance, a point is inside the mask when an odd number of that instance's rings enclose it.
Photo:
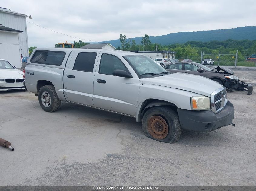
M 24 73 L 4 59 L 0 59 L 0 91 L 25 90 L 23 86 Z

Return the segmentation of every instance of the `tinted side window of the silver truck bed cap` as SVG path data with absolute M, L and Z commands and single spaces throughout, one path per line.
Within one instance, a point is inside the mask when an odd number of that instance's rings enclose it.
M 36 51 L 31 59 L 31 62 L 60 66 L 65 54 L 65 52 L 58 51 Z

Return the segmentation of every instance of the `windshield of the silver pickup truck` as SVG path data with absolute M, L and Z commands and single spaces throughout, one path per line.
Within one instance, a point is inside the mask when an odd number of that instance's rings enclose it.
M 151 75 L 147 77 L 157 77 L 161 75 L 170 74 L 165 70 L 165 68 L 163 68 L 161 65 L 159 65 L 157 62 L 155 62 L 148 56 L 127 55 L 123 57 L 131 65 L 131 67 L 135 70 L 135 72 L 140 78 L 142 78 L 143 75 Z

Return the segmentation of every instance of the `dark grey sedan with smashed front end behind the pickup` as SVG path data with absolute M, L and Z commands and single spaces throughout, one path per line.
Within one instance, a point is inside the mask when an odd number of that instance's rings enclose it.
M 210 78 L 224 85 L 227 89 L 247 91 L 247 94 L 252 93 L 252 85 L 247 84 L 244 81 L 239 80 L 234 76 L 234 72 L 228 68 L 217 66 L 213 69 L 208 68 L 205 65 L 198 64 L 196 62 L 175 62 L 166 64 L 163 66 L 167 71 L 183 72 L 189 74 L 195 74 Z

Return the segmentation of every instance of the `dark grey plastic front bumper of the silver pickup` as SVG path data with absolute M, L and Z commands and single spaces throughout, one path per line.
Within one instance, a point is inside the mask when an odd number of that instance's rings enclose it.
M 228 101 L 223 110 L 214 114 L 211 110 L 193 111 L 177 109 L 181 128 L 189 131 L 209 132 L 232 124 L 234 106 Z

